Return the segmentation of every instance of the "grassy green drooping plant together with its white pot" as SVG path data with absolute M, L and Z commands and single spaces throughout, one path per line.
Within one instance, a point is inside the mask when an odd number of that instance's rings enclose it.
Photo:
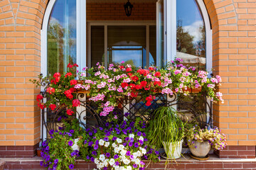
M 149 143 L 156 149 L 164 145 L 167 159 L 178 159 L 181 157 L 185 124 L 174 108 L 164 106 L 156 109 L 149 125 Z

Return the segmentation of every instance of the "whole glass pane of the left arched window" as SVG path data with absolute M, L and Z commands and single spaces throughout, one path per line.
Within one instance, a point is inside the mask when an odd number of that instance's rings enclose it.
M 48 23 L 47 45 L 48 75 L 67 72 L 68 63 L 76 63 L 76 1 L 55 1 Z

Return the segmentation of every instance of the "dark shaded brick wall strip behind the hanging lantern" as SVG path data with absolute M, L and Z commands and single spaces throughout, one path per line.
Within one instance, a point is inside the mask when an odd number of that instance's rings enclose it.
M 156 3 L 132 3 L 132 15 L 127 17 L 124 3 L 87 3 L 87 21 L 156 21 Z

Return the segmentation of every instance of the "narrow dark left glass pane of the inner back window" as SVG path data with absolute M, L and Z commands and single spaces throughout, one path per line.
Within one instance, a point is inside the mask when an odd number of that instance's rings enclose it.
M 104 26 L 91 27 L 91 66 L 104 62 Z

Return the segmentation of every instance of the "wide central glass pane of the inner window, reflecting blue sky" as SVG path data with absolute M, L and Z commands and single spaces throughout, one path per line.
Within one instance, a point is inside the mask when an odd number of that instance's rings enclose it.
M 108 64 L 146 66 L 146 26 L 107 27 Z

